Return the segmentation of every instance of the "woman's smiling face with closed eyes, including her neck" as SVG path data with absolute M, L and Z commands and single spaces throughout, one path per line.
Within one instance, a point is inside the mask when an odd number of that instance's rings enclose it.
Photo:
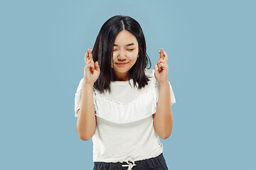
M 128 30 L 122 30 L 114 40 L 112 68 L 117 79 L 127 81 L 128 71 L 137 61 L 139 45 L 136 37 Z

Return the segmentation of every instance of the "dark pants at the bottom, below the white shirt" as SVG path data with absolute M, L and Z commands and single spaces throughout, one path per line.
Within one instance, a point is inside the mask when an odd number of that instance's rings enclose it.
M 132 162 L 129 162 L 130 166 L 132 166 Z M 106 162 L 94 162 L 95 166 L 93 170 L 127 170 L 129 168 L 126 162 L 117 162 L 117 163 L 106 163 Z M 134 166 L 132 166 L 132 170 L 146 170 L 146 169 L 163 169 L 168 170 L 166 161 L 164 159 L 163 153 L 161 153 L 158 157 L 144 159 L 142 161 L 134 162 Z M 122 166 L 124 165 L 124 166 Z

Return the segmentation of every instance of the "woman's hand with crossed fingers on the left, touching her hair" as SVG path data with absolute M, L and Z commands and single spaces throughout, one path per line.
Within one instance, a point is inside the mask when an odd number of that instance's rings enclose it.
M 88 49 L 85 54 L 84 84 L 90 84 L 93 86 L 99 76 L 99 63 L 93 62 L 92 50 Z

